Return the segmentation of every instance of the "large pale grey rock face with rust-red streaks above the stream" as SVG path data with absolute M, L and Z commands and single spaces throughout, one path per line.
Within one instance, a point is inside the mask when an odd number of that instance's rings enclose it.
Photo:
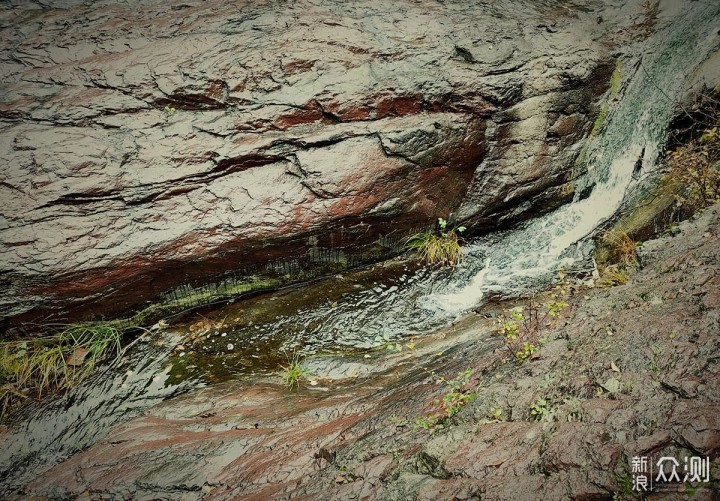
M 14 323 L 118 314 L 313 249 L 362 255 L 438 216 L 482 231 L 557 206 L 609 83 L 608 34 L 644 15 L 53 5 L 0 13 L 0 317 Z

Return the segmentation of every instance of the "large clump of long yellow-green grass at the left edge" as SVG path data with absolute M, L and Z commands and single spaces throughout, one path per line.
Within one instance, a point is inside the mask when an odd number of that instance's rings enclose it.
M 53 326 L 49 335 L 0 342 L 0 415 L 20 398 L 70 389 L 106 355 L 120 356 L 122 330 L 105 322 Z

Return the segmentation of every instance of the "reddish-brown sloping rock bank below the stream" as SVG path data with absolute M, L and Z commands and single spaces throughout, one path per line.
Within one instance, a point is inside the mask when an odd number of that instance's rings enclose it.
M 332 378 L 297 392 L 256 379 L 168 400 L 14 488 L 35 498 L 609 499 L 627 494 L 634 456 L 709 456 L 720 478 L 720 208 L 674 231 L 642 246 L 626 285 L 574 296 L 521 366 L 498 364 L 493 320 L 473 315 L 415 350 L 351 357 L 345 379 L 336 363 Z M 366 363 L 374 369 L 361 374 Z M 435 433 L 413 429 L 447 391 L 438 378 L 467 368 L 478 397 Z M 695 498 L 717 493 L 712 480 Z M 654 496 L 688 493 L 676 483 Z

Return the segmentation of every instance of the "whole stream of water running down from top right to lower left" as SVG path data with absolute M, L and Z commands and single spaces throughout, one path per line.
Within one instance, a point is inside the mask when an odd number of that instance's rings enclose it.
M 5 489 L 190 387 L 269 372 L 283 360 L 284 350 L 383 346 L 446 325 L 487 295 L 518 295 L 547 284 L 561 266 L 588 266 L 587 237 L 633 188 L 633 167 L 641 155 L 645 166 L 657 159 L 685 76 L 717 45 L 715 34 L 709 33 L 717 28 L 712 20 L 719 14 L 720 7 L 710 3 L 688 10 L 665 30 L 660 51 L 624 61 L 626 87 L 588 150 L 585 181 L 595 187 L 587 198 L 472 242 L 454 270 L 378 265 L 209 312 L 207 326 L 186 326 L 181 332 L 201 331 L 192 347 L 179 347 L 182 338 L 172 335 L 159 339 L 159 346 L 145 343 L 121 369 L 96 377 L 41 411 L 33 409 L 33 417 L 19 423 L 0 453 Z

